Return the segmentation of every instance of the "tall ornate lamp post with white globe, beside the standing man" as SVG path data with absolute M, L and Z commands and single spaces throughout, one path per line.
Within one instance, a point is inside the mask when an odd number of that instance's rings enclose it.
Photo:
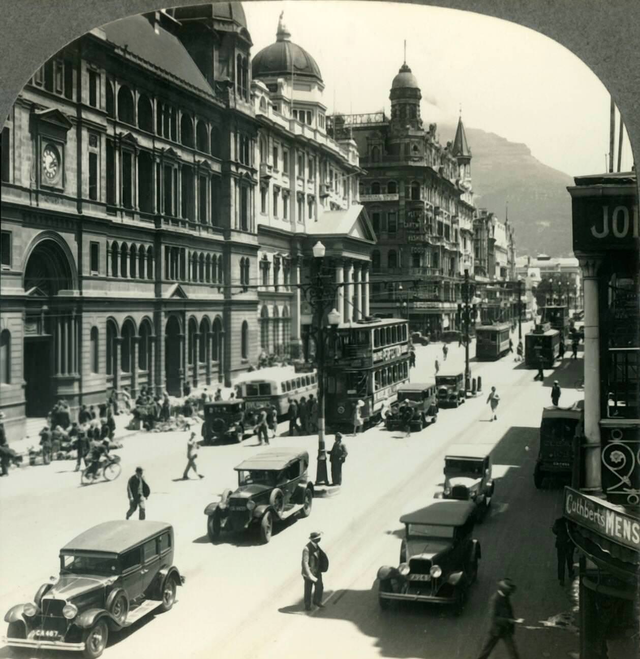
M 333 331 L 340 323 L 341 315 L 334 307 L 335 293 L 340 286 L 333 280 L 333 273 L 324 270 L 324 244 L 318 241 L 313 246 L 314 264 L 310 273 L 310 283 L 303 284 L 301 291 L 312 313 L 301 313 L 300 322 L 306 326 L 307 337 L 314 337 L 316 344 L 316 368 L 318 370 L 318 464 L 316 485 L 328 485 L 327 453 L 324 442 L 324 362 L 327 336 L 324 328 L 324 314 L 328 313 L 329 325 Z M 308 345 L 308 341 L 306 341 Z M 305 360 L 308 361 L 308 348 Z

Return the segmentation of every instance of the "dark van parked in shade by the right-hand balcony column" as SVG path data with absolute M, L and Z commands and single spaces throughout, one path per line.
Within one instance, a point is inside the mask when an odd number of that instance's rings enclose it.
M 533 470 L 535 486 L 542 488 L 544 478 L 570 478 L 573 465 L 573 437 L 584 415 L 585 401 L 569 407 L 550 405 L 542 410 L 540 445 Z

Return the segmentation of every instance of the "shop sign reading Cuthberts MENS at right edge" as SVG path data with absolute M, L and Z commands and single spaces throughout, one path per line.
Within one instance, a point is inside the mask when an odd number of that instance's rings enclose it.
M 573 488 L 564 488 L 564 517 L 613 542 L 640 549 L 640 521 Z

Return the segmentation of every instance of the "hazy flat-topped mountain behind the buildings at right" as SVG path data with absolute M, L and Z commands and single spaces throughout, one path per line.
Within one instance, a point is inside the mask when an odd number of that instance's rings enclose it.
M 439 125 L 438 129 L 441 144 L 453 141 L 455 125 Z M 542 164 L 526 144 L 480 129 L 465 127 L 465 132 L 473 156 L 475 206 L 504 220 L 509 202 L 517 254 L 572 256 L 571 197 L 566 188 L 573 185 L 573 179 Z

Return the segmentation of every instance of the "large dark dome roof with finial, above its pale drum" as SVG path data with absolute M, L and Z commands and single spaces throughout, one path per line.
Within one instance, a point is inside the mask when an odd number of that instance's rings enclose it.
M 233 4 L 233 3 L 230 3 Z M 282 14 L 277 26 L 276 43 L 263 48 L 252 60 L 253 78 L 286 78 L 295 76 L 314 78 L 322 82 L 320 67 L 306 50 L 291 41 L 291 33 L 282 22 Z

